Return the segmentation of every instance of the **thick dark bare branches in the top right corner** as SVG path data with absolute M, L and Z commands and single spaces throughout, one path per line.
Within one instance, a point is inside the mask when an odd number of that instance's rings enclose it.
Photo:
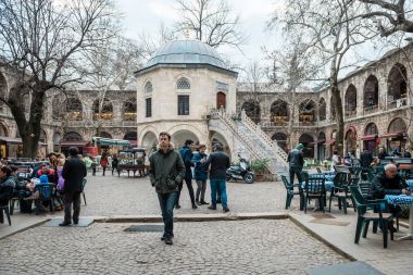
M 365 3 L 364 18 L 373 18 L 381 36 L 413 33 L 413 2 L 405 0 L 359 0 Z

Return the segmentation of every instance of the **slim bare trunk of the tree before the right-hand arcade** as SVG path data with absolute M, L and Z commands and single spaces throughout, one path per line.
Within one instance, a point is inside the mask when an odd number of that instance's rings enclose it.
M 337 134 L 336 134 L 336 145 L 335 150 L 339 152 L 341 157 L 345 155 L 345 117 L 342 112 L 342 102 L 340 90 L 338 89 L 337 79 L 330 78 L 333 104 L 336 107 L 336 121 L 337 121 Z

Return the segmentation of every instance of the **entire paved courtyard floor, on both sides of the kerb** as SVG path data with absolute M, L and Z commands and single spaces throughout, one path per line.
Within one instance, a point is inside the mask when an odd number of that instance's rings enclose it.
M 230 212 L 224 214 L 220 207 L 216 211 L 208 205 L 192 210 L 184 187 L 183 208 L 175 210 L 183 222 L 175 223 L 174 246 L 168 247 L 160 240 L 162 232 L 125 232 L 129 226 L 148 225 L 138 222 L 142 217 L 158 218 L 149 225 L 161 225 L 149 178 L 89 174 L 87 205 L 83 203 L 80 215 L 97 222 L 87 227 L 49 227 L 36 223 L 62 217 L 62 212 L 35 216 L 17 210 L 12 216 L 15 228 L 25 221 L 36 226 L 27 225 L 25 230 L 0 239 L 0 273 L 305 274 L 312 266 L 355 259 L 385 274 L 409 274 L 404 270 L 413 252 L 409 241 L 390 241 L 384 250 L 381 235 L 370 234 L 354 245 L 355 214 L 351 210 L 348 215 L 337 207 L 330 214 L 303 214 L 298 199 L 285 210 L 285 189 L 279 182 L 228 183 L 227 191 Z M 268 218 L 270 213 L 280 217 Z M 281 218 L 286 214 L 290 218 Z M 237 218 L 241 215 L 251 220 Z M 217 221 L 190 222 L 205 216 Z M 112 222 L 105 223 L 105 218 Z M 7 229 L 7 224 L 0 224 L 0 234 Z

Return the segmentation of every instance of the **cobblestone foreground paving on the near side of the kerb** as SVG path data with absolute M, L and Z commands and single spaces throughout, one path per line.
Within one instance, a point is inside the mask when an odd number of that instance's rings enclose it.
M 129 225 L 35 227 L 0 240 L 0 273 L 296 275 L 348 261 L 289 220 L 176 223 L 174 246 Z

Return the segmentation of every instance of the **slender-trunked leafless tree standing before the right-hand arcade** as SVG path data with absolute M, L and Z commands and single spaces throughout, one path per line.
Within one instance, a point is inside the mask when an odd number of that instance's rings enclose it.
M 346 54 L 355 46 L 372 39 L 377 34 L 368 33 L 365 20 L 358 17 L 363 3 L 349 0 L 287 0 L 286 30 L 291 35 L 302 30 L 305 43 L 318 50 L 329 62 L 329 88 L 333 93 L 337 120 L 336 149 L 343 153 L 343 110 L 338 75 L 347 65 Z

